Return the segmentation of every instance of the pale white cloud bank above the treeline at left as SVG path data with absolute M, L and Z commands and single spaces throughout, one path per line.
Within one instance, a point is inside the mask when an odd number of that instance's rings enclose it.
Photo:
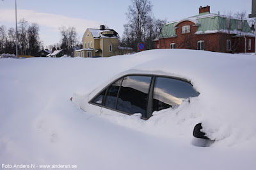
M 25 19 L 29 23 L 36 23 L 40 26 L 40 32 L 43 32 L 40 36 L 45 45 L 60 41 L 59 28 L 61 26 L 75 27 L 79 38 L 81 38 L 87 28 L 99 28 L 100 24 L 102 24 L 94 20 L 76 19 L 63 15 L 35 12 L 32 10 L 17 10 L 17 22 L 19 22 L 20 19 Z M 15 23 L 15 10 L 1 10 L 0 22 Z M 47 35 L 46 32 L 49 33 L 49 35 Z M 47 38 L 49 36 L 54 40 L 49 41 L 49 38 Z M 47 39 L 45 40 L 45 38 Z

